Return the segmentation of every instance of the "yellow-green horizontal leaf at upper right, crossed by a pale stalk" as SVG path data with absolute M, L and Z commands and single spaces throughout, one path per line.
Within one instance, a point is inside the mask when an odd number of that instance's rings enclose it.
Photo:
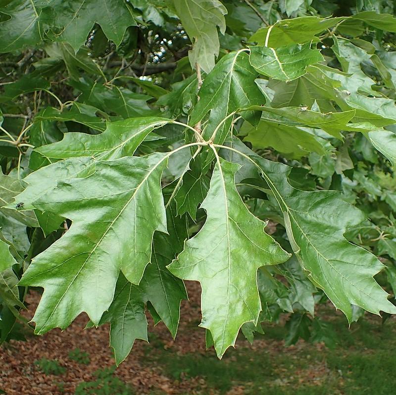
M 304 44 L 313 40 L 316 34 L 336 25 L 347 19 L 339 18 L 319 18 L 317 16 L 303 16 L 300 18 L 283 19 L 276 22 L 272 27 L 258 29 L 249 41 L 256 41 L 259 45 L 264 45 L 268 30 L 269 40 L 267 46 L 277 48 L 288 44 Z

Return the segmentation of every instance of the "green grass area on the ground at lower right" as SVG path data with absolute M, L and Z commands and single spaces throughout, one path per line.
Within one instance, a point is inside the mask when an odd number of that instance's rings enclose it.
M 304 342 L 279 349 L 279 342 L 268 342 L 262 350 L 229 349 L 218 360 L 213 351 L 175 355 L 160 348 L 142 363 L 161 366 L 174 380 L 202 378 L 202 394 L 208 389 L 226 394 L 237 386 L 246 395 L 393 394 L 396 321 L 383 325 L 381 318 L 370 317 L 350 329 L 343 316 L 332 316 L 331 322 L 337 334 L 334 350 Z M 264 338 L 279 341 L 284 336 L 284 328 L 265 328 Z M 244 344 L 243 338 L 238 343 Z

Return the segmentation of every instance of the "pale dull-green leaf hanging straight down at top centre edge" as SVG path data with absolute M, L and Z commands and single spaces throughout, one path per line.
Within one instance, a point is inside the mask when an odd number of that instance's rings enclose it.
M 198 63 L 205 73 L 209 73 L 220 49 L 217 26 L 222 34 L 226 30 L 226 7 L 218 0 L 173 0 L 173 3 L 193 43 L 193 49 L 189 51 L 191 66 L 195 68 Z

